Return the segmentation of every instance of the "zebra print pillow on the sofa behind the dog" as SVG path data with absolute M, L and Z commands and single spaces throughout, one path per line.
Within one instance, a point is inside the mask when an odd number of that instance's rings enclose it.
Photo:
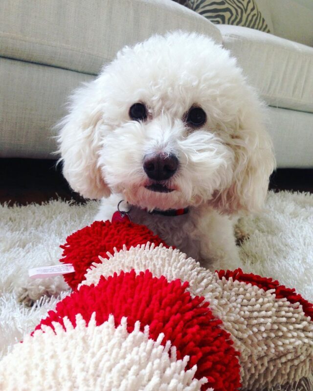
M 212 23 L 234 24 L 270 32 L 254 0 L 189 0 L 188 6 Z

